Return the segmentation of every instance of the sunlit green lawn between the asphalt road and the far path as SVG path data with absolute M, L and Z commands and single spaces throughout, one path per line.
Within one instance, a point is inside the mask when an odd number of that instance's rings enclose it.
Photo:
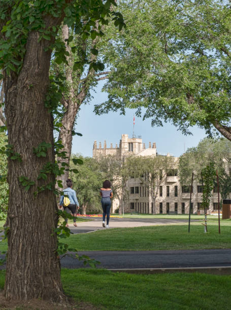
M 79 251 L 148 251 L 186 249 L 231 248 L 231 220 L 221 221 L 218 234 L 217 220 L 209 221 L 208 233 L 200 222 L 188 226 L 158 225 L 134 228 L 113 228 L 71 235 L 67 243 Z M 0 251 L 7 249 L 7 242 L 0 242 Z

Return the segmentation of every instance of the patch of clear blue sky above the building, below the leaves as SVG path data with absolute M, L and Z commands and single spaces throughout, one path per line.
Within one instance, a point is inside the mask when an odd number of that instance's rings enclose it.
M 104 102 L 107 94 L 102 93 L 103 83 L 99 84 L 96 93 L 90 104 L 82 105 L 77 120 L 76 131 L 82 133 L 82 137 L 75 136 L 73 139 L 72 153 L 81 153 L 83 156 L 92 157 L 93 142 L 96 140 L 107 146 L 113 143 L 113 147 L 121 139 L 121 134 L 133 135 L 133 115 L 134 110 L 127 109 L 126 115 L 119 112 L 110 112 L 103 115 L 95 115 L 94 104 Z M 149 141 L 156 142 L 157 152 L 173 156 L 180 156 L 184 149 L 196 146 L 206 134 L 205 131 L 197 127 L 191 130 L 193 135 L 185 136 L 171 124 L 164 124 L 163 127 L 151 127 L 151 119 L 143 121 L 142 118 L 135 117 L 135 135 L 142 136 L 143 143 L 148 147 Z

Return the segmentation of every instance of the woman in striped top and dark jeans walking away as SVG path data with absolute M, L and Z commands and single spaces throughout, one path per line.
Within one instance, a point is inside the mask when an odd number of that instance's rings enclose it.
M 111 189 L 111 183 L 108 180 L 105 180 L 103 187 L 100 189 L 100 195 L 102 197 L 102 209 L 103 209 L 103 227 L 105 227 L 105 217 L 107 215 L 107 225 L 106 228 L 109 228 L 109 219 L 110 219 L 110 209 L 111 209 L 111 199 L 113 197 L 113 192 Z

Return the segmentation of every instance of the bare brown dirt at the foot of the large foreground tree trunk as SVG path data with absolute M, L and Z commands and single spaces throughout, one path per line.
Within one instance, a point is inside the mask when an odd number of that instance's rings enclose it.
M 79 302 L 79 303 L 67 303 L 66 305 L 58 305 L 45 300 L 31 299 L 28 301 L 18 300 L 6 300 L 3 296 L 3 292 L 0 292 L 0 309 L 1 310 L 100 310 L 101 308 L 95 307 L 92 304 Z

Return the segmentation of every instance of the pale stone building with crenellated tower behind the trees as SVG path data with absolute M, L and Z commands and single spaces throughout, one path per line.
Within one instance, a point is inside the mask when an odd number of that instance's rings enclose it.
M 149 142 L 148 148 L 145 147 L 145 143 L 142 141 L 142 137 L 135 135 L 133 138 L 128 138 L 127 134 L 122 134 L 119 147 L 116 144 L 113 147 L 112 143 L 110 147 L 107 147 L 106 141 L 104 141 L 104 146 L 102 147 L 101 142 L 97 146 L 97 142 L 94 141 L 93 145 L 93 158 L 100 156 L 108 156 L 113 154 L 118 156 L 118 158 L 125 159 L 127 156 L 159 156 L 156 151 L 156 143 Z M 167 154 L 170 156 L 170 154 Z M 176 161 L 176 167 L 178 158 L 174 157 Z M 171 173 L 168 173 L 165 178 L 163 178 L 159 188 L 157 197 L 155 200 L 155 206 L 153 206 L 152 199 L 149 190 L 144 186 L 142 181 L 138 178 L 130 178 L 127 181 L 127 190 L 129 192 L 129 200 L 124 203 L 124 212 L 139 212 L 139 213 L 153 213 L 153 208 L 155 208 L 155 213 L 175 213 L 175 214 L 188 214 L 189 213 L 189 198 L 190 198 L 190 185 L 182 186 L 179 181 L 177 169 L 172 169 Z M 201 184 L 197 182 L 193 183 L 191 196 L 191 210 L 193 214 L 204 213 L 201 208 L 203 193 Z M 221 201 L 221 197 L 220 197 Z M 113 200 L 112 211 L 119 206 L 118 201 Z M 221 206 L 221 204 L 220 204 Z M 218 208 L 218 196 L 217 189 L 214 188 L 209 212 L 217 210 Z

